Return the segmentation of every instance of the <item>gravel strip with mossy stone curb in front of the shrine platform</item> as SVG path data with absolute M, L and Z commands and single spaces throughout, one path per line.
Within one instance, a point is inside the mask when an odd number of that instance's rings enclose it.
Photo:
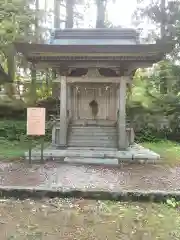
M 101 200 L 180 200 L 180 167 L 120 167 L 47 162 L 0 163 L 0 198 L 76 197 Z

